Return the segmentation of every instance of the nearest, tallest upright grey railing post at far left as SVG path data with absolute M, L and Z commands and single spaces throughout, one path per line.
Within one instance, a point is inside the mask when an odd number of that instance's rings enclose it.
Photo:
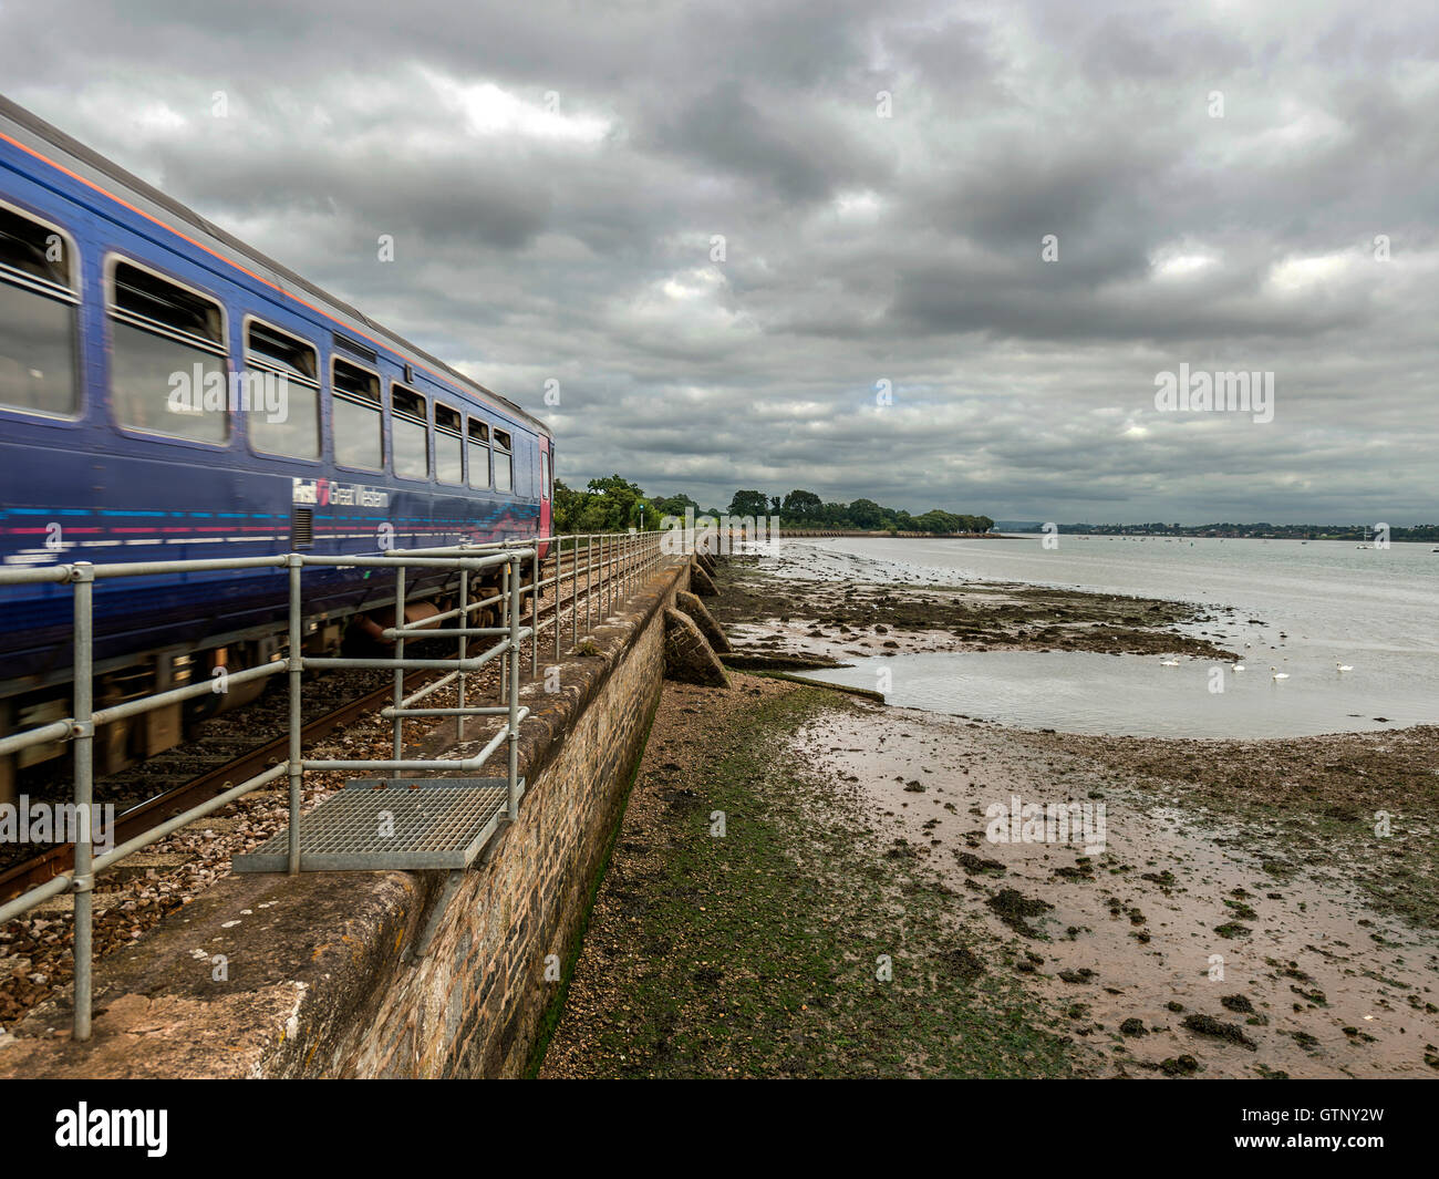
M 75 1039 L 89 1039 L 91 1009 L 94 1008 L 95 976 L 95 877 L 91 862 L 95 849 L 95 832 L 91 829 L 91 803 L 94 802 L 95 769 L 95 726 L 91 714 L 95 707 L 95 573 L 89 561 L 71 566 L 71 580 L 75 583 L 75 727 L 71 730 L 75 741 L 75 877 L 71 887 L 75 891 Z

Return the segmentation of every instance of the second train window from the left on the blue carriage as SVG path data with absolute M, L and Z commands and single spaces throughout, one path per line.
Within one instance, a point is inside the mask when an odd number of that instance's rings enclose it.
M 117 262 L 109 315 L 115 420 L 194 442 L 229 441 L 230 389 L 220 304 Z

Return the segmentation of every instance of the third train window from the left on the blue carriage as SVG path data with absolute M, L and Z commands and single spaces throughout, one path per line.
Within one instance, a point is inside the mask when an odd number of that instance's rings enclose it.
M 319 356 L 312 344 L 250 320 L 245 328 L 250 445 L 288 458 L 319 458 Z

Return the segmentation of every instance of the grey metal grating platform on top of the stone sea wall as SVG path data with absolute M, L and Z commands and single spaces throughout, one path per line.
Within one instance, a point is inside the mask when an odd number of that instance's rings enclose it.
M 466 868 L 505 819 L 508 799 L 504 777 L 348 782 L 301 816 L 299 869 Z M 232 867 L 236 872 L 286 871 L 289 829 L 236 855 Z

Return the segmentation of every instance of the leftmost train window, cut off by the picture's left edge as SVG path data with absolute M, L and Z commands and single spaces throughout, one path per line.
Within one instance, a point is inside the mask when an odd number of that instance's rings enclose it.
M 71 272 L 65 238 L 0 207 L 0 406 L 56 416 L 79 409 Z

